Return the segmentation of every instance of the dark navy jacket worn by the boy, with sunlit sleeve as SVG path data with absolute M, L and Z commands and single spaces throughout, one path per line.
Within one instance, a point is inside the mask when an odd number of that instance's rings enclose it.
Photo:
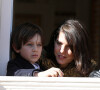
M 7 65 L 7 76 L 33 76 L 34 66 L 21 56 L 17 56 L 14 60 L 10 60 Z

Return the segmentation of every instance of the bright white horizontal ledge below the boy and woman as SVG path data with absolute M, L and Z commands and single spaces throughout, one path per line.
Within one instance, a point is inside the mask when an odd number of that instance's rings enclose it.
M 0 90 L 100 90 L 100 78 L 0 76 Z

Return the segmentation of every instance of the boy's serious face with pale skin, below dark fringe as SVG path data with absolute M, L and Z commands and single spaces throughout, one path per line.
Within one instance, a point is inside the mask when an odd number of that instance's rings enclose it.
M 26 44 L 22 45 L 20 50 L 17 50 L 24 59 L 34 64 L 41 56 L 42 41 L 39 34 L 35 34 Z

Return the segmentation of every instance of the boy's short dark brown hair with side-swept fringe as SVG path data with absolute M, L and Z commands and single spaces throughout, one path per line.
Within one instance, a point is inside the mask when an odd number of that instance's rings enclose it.
M 39 26 L 31 23 L 18 25 L 11 33 L 11 49 L 13 50 L 12 45 L 14 45 L 17 50 L 21 49 L 22 44 L 27 43 L 35 34 L 41 36 L 43 44 L 42 30 Z

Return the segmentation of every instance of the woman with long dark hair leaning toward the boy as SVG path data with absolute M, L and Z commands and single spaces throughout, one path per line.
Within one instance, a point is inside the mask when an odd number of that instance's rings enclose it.
M 93 70 L 88 49 L 88 35 L 83 26 L 77 20 L 66 20 L 53 32 L 44 48 L 47 58 L 40 61 L 40 66 L 44 70 L 58 67 L 66 77 L 88 76 Z

